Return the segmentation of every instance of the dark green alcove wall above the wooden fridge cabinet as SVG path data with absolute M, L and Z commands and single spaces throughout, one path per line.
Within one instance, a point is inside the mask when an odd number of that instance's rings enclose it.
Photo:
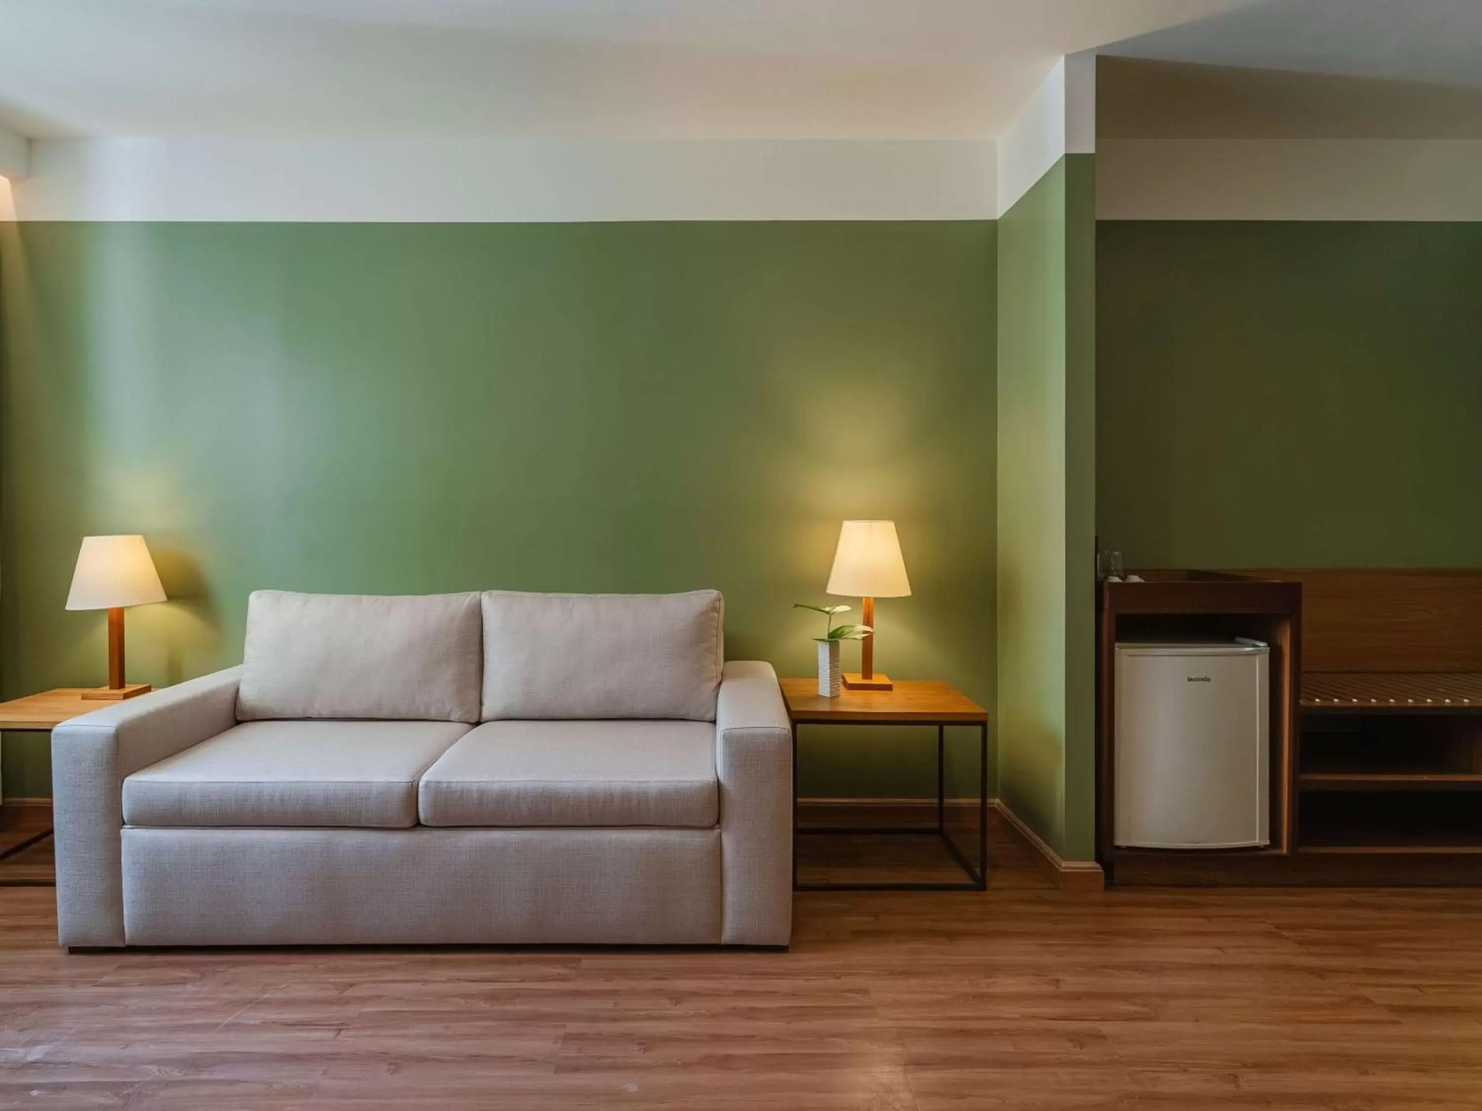
M 1097 252 L 1106 547 L 1482 564 L 1482 224 L 1103 222 Z

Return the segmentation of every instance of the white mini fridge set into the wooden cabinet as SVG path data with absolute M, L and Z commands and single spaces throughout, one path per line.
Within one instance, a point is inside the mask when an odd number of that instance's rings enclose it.
M 1114 844 L 1270 844 L 1270 655 L 1257 641 L 1116 646 Z

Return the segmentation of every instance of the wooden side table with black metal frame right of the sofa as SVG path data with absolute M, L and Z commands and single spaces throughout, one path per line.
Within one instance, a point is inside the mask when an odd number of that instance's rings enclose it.
M 975 890 L 988 884 L 988 711 L 947 683 L 895 680 L 894 690 L 845 690 L 823 698 L 817 678 L 784 678 L 793 723 L 793 887 L 815 890 Z M 968 874 L 963 883 L 797 883 L 797 726 L 937 726 L 937 824 L 904 827 L 808 827 L 811 834 L 937 834 Z M 978 865 L 947 833 L 947 726 L 978 727 Z

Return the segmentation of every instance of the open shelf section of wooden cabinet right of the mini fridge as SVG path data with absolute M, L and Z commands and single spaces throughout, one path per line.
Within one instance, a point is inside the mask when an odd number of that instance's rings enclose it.
M 1301 582 L 1298 847 L 1482 862 L 1482 573 L 1273 570 Z M 1403 867 L 1403 861 L 1398 864 Z

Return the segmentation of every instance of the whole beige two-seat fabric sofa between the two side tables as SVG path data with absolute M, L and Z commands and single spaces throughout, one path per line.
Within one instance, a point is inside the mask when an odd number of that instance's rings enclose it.
M 716 591 L 259 591 L 52 733 L 61 942 L 785 945 L 791 735 Z

